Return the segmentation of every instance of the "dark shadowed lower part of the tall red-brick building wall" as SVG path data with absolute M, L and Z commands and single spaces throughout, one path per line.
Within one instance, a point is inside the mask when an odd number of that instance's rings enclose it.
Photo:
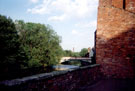
M 108 40 L 97 36 L 96 41 L 96 61 L 105 76 L 135 77 L 135 27 Z

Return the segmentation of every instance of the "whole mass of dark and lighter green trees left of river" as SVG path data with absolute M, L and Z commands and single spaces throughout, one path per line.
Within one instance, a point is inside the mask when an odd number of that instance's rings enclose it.
M 49 25 L 25 23 L 0 15 L 0 76 L 57 64 L 61 38 Z

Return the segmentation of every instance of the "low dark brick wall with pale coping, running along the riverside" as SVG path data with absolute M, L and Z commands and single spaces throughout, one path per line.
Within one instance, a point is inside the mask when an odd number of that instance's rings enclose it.
M 98 81 L 100 65 L 43 73 L 22 79 L 0 82 L 0 91 L 71 91 Z

